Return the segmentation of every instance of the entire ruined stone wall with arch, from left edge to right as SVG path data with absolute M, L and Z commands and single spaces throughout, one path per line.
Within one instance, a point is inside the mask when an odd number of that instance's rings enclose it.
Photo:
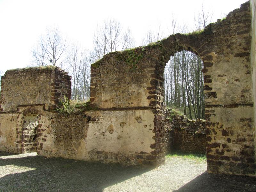
M 35 150 L 43 156 L 105 163 L 164 163 L 164 67 L 175 52 L 187 50 L 204 62 L 207 171 L 255 176 L 251 21 L 247 2 L 202 33 L 175 34 L 146 47 L 105 55 L 91 66 L 95 110 L 81 114 L 49 110 L 59 102 L 60 89 L 70 97 L 70 77 L 61 70 L 47 68 L 30 79 L 26 76 L 34 69 L 21 70 L 23 75 L 19 70 L 6 72 L 0 150 Z M 23 99 L 15 99 L 18 95 Z

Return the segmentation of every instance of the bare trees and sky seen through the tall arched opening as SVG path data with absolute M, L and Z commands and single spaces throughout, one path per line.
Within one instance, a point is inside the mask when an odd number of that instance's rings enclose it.
M 164 69 L 164 101 L 190 119 L 204 119 L 203 61 L 181 51 L 170 57 Z

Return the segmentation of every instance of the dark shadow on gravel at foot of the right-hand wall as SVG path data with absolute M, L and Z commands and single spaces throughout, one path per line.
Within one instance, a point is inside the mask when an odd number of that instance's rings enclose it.
M 256 177 L 202 173 L 176 192 L 240 192 L 256 191 Z

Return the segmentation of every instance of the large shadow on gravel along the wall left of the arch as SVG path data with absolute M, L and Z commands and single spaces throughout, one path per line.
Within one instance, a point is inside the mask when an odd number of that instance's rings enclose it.
M 0 152 L 7 155 L 14 154 Z M 42 156 L 0 159 L 0 166 L 8 165 L 35 170 L 5 175 L 0 178 L 0 191 L 102 191 L 152 169 Z

